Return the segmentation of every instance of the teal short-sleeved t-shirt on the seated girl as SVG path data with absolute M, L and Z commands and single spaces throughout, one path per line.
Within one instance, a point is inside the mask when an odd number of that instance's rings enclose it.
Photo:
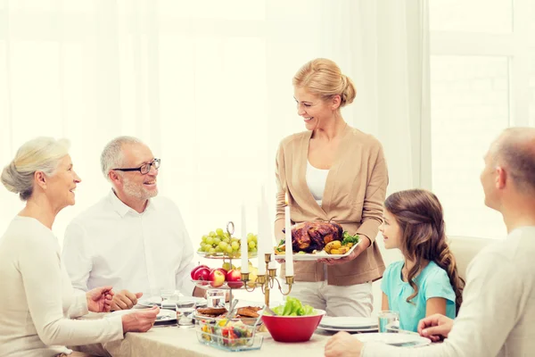
M 412 303 L 407 303 L 407 297 L 414 293 L 413 288 L 401 279 L 401 269 L 405 262 L 393 262 L 384 271 L 381 289 L 388 296 L 391 311 L 399 312 L 399 328 L 415 331 L 418 321 L 425 317 L 427 299 L 442 297 L 446 299 L 446 316 L 455 319 L 455 292 L 449 283 L 446 270 L 435 262 L 427 266 L 414 278 L 418 286 L 418 295 L 413 297 Z M 414 303 L 414 304 L 413 304 Z

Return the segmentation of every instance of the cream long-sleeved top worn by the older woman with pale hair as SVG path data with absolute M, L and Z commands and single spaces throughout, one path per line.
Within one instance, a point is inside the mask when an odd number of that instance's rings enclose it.
M 50 229 L 17 216 L 0 239 L 0 356 L 53 356 L 64 345 L 123 338 L 121 317 L 70 320 L 87 313 Z

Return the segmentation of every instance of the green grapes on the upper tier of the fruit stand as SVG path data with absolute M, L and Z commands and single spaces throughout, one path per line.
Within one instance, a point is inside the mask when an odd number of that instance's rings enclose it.
M 248 252 L 257 252 L 258 237 L 255 234 L 247 234 Z M 198 252 L 206 255 L 226 255 L 228 257 L 237 258 L 240 256 L 241 239 L 239 237 L 229 237 L 228 233 L 223 229 L 218 228 L 211 231 L 208 235 L 201 238 L 201 244 Z M 230 269 L 227 269 L 230 270 Z

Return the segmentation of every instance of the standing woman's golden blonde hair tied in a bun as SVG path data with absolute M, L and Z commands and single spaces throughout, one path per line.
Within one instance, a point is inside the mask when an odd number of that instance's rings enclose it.
M 305 63 L 295 76 L 292 84 L 304 87 L 322 99 L 330 99 L 333 95 L 340 95 L 340 107 L 350 104 L 357 95 L 353 81 L 342 74 L 340 67 L 326 58 L 317 58 Z

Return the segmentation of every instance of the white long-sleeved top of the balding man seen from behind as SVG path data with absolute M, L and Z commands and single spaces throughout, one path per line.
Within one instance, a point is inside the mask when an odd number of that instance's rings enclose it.
M 535 227 L 517 228 L 470 263 L 461 310 L 442 344 L 414 349 L 366 344 L 362 356 L 533 356 L 534 287 Z

